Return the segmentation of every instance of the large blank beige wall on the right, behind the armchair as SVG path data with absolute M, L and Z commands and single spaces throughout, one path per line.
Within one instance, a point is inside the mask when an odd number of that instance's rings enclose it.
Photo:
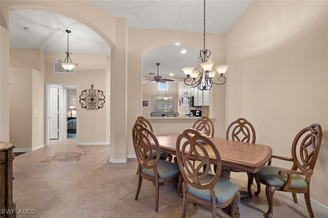
M 320 124 L 324 137 L 311 198 L 325 206 L 327 17 L 326 1 L 253 1 L 226 36 L 226 127 L 246 118 L 255 127 L 257 143 L 270 145 L 274 155 L 291 157 L 297 133 Z

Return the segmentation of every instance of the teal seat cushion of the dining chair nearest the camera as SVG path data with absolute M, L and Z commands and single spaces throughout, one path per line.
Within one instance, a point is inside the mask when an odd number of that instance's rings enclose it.
M 206 178 L 202 179 L 200 183 L 207 183 L 211 181 L 213 177 L 214 175 L 209 174 Z M 234 197 L 237 191 L 238 186 L 236 184 L 220 177 L 214 186 L 216 202 L 224 203 L 229 201 L 232 197 Z M 202 200 L 212 201 L 210 189 L 197 189 L 191 185 L 188 185 L 187 192 Z

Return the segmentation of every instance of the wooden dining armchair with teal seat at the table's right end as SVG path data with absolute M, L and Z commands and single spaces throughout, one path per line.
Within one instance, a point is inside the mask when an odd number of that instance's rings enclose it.
M 256 183 L 267 186 L 265 187 L 265 195 L 267 195 L 269 205 L 269 210 L 265 214 L 267 217 L 273 215 L 273 194 L 275 191 L 292 192 L 296 204 L 298 203 L 296 193 L 303 193 L 310 217 L 314 217 L 310 201 L 310 181 L 318 158 L 321 139 L 322 130 L 319 124 L 312 124 L 303 128 L 293 141 L 292 158 L 271 156 L 271 158 L 292 162 L 292 169 L 271 166 L 272 160 L 270 159 L 269 164 L 255 174 Z M 261 186 L 258 185 L 255 195 L 258 195 L 260 191 Z

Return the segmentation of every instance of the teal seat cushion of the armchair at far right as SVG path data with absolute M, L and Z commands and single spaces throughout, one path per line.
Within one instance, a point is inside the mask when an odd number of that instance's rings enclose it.
M 281 187 L 287 181 L 287 173 L 285 173 L 284 177 L 281 177 L 278 173 L 282 169 L 284 168 L 264 166 L 256 175 L 267 185 Z M 308 185 L 300 175 L 293 174 L 290 188 L 308 188 Z

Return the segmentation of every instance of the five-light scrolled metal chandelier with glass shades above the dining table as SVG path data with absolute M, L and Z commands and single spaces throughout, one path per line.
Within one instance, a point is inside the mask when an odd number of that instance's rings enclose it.
M 214 62 L 211 62 L 212 57 L 211 51 L 207 50 L 205 47 L 205 0 L 204 0 L 204 48 L 200 50 L 198 62 L 202 68 L 202 72 L 194 71 L 195 68 L 183 68 L 182 71 L 187 75 L 184 82 L 186 85 L 191 85 L 193 88 L 198 88 L 201 91 L 210 90 L 213 84 L 222 85 L 226 83 L 226 77 L 224 77 L 224 73 L 226 73 L 228 66 L 218 66 L 215 70 L 212 70 L 214 66 Z M 213 77 L 215 73 L 218 72 L 218 82 L 213 81 Z M 204 79 L 203 79 L 204 77 Z

